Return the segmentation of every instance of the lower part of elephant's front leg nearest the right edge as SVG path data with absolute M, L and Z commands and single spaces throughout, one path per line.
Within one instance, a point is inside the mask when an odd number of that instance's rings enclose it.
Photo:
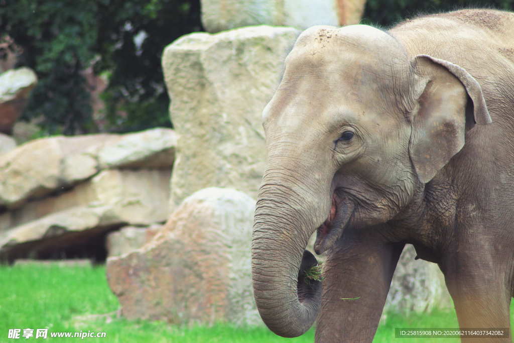
M 510 342 L 510 274 L 503 258 L 484 247 L 449 256 L 441 266 L 452 296 L 458 323 L 466 329 L 504 329 L 508 338 L 480 338 L 481 342 Z M 464 338 L 463 341 L 476 341 Z

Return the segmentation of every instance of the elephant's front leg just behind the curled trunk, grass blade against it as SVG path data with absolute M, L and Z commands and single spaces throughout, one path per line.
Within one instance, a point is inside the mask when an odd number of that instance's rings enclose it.
M 403 243 L 343 234 L 324 263 L 316 342 L 371 342 Z

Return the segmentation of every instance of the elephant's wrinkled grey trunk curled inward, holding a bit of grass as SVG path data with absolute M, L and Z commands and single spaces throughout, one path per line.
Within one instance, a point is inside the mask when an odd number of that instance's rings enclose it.
M 298 185 L 299 176 L 275 176 L 268 168 L 260 188 L 252 236 L 252 278 L 255 302 L 274 333 L 296 337 L 316 320 L 321 282 L 305 277 L 317 264 L 304 250 L 329 212 L 329 196 L 320 197 L 319 179 Z M 281 174 L 281 172 L 278 172 Z M 302 191 L 314 189 L 313 193 Z M 317 194 L 316 194 L 317 193 Z M 303 194 L 303 196 L 302 196 Z M 316 196 L 314 196 L 316 194 Z

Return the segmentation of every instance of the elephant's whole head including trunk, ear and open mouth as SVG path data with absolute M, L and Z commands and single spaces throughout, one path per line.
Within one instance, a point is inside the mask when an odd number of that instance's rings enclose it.
M 321 283 L 304 249 L 337 244 L 346 227 L 391 221 L 490 122 L 478 82 L 463 68 L 408 56 L 365 25 L 304 31 L 263 111 L 267 168 L 252 239 L 254 297 L 275 333 L 303 334 L 317 317 Z

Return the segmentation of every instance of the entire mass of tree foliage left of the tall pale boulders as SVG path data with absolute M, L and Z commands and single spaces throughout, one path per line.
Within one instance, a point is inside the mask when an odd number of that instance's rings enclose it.
M 0 32 L 40 80 L 24 118 L 47 133 L 97 130 L 83 76 L 92 62 L 109 79 L 108 129 L 169 126 L 162 49 L 200 29 L 199 0 L 0 0 Z

